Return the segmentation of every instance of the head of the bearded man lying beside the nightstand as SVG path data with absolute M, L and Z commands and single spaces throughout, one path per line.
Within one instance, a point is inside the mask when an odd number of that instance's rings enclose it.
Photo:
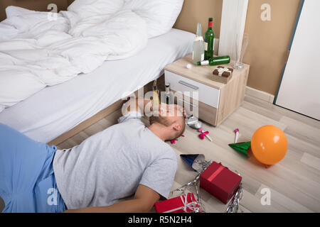
M 159 113 L 151 116 L 149 121 L 150 125 L 158 125 L 157 130 L 164 134 L 165 140 L 179 138 L 186 128 L 183 109 L 177 105 L 161 105 Z

